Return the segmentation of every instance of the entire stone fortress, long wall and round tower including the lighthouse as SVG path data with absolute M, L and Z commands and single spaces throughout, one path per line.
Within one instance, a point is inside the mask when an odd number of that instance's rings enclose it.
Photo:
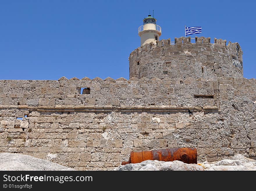
M 159 40 L 149 16 L 130 78 L 0 80 L 0 152 L 111 170 L 131 151 L 196 147 L 198 161 L 256 158 L 256 80 L 237 42 Z M 246 65 L 245 65 L 246 66 Z

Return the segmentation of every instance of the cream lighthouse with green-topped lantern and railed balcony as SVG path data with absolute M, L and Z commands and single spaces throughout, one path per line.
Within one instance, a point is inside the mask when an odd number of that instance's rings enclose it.
M 141 37 L 141 46 L 159 40 L 161 36 L 161 27 L 156 24 L 157 19 L 148 15 L 147 18 L 143 19 L 143 25 L 138 28 L 138 35 Z

